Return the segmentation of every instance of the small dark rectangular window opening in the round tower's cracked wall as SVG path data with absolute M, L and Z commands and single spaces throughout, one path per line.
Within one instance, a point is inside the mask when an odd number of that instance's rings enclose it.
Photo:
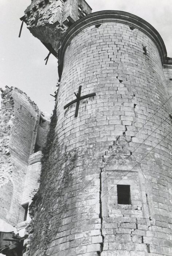
M 131 204 L 130 185 L 117 185 L 118 204 Z

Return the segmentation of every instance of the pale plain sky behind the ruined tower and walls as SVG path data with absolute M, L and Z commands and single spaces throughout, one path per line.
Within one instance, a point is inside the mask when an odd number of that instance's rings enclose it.
M 27 93 L 40 110 L 52 113 L 58 81 L 57 59 L 23 25 L 20 17 L 31 0 L 0 0 L 0 87 L 15 86 Z M 93 12 L 120 10 L 149 22 L 160 33 L 172 57 L 172 0 L 87 0 Z

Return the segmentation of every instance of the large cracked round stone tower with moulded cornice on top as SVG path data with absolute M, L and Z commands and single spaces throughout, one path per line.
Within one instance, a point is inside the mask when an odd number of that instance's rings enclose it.
M 162 38 L 135 15 L 101 11 L 60 44 L 29 255 L 172 255 L 172 62 Z

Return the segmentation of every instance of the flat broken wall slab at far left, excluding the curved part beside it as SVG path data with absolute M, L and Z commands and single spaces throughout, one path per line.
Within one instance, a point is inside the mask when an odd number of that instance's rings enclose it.
M 16 225 L 39 110 L 19 89 L 7 89 L 0 110 L 0 218 Z

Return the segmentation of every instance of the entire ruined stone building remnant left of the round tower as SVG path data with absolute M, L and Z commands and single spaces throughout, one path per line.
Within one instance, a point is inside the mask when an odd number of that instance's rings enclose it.
M 14 231 L 24 236 L 28 204 L 38 189 L 40 150 L 49 121 L 19 89 L 6 86 L 1 92 L 0 232 Z

